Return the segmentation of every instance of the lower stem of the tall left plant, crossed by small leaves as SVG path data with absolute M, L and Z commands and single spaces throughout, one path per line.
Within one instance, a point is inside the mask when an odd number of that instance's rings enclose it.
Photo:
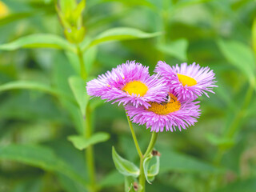
M 91 111 L 90 108 L 87 106 L 86 108 L 86 117 L 85 118 L 85 125 L 84 125 L 84 136 L 85 138 L 90 138 L 91 136 Z M 88 170 L 88 175 L 90 178 L 90 191 L 95 192 L 97 191 L 95 185 L 95 169 L 94 169 L 94 148 L 93 146 L 88 146 L 85 151 L 86 154 L 86 166 Z

